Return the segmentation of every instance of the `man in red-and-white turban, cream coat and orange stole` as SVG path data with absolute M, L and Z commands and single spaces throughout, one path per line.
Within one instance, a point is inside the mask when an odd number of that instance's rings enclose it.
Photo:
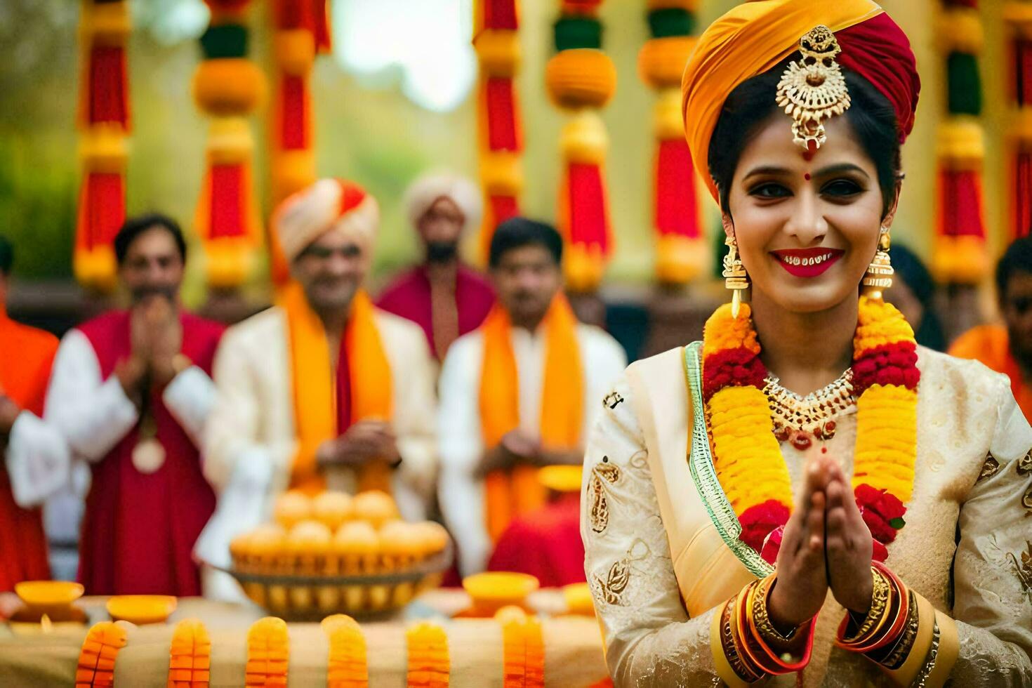
M 433 364 L 420 329 L 361 289 L 379 224 L 376 199 L 335 178 L 273 215 L 292 282 L 277 305 L 230 328 L 216 357 L 204 473 L 220 495 L 197 545 L 203 560 L 225 562 L 229 539 L 269 519 L 288 488 L 383 490 L 407 520 L 425 518 Z

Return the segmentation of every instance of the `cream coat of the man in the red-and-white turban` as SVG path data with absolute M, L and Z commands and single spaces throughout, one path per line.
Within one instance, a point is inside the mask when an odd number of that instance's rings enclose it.
M 420 520 L 437 474 L 434 364 L 417 325 L 382 310 L 375 317 L 391 368 L 390 423 L 401 455 L 394 498 L 406 519 Z M 216 353 L 218 402 L 205 436 L 204 474 L 219 504 L 198 539 L 205 561 L 228 564 L 229 540 L 269 520 L 275 497 L 290 484 L 298 439 L 288 335 L 286 312 L 273 306 L 229 328 Z

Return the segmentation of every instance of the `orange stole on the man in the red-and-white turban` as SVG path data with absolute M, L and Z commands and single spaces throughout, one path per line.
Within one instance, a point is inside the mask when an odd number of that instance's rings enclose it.
M 336 407 L 336 371 L 322 321 L 309 306 L 296 282 L 288 284 L 279 300 L 287 313 L 294 392 L 294 423 L 298 448 L 291 467 L 291 487 L 310 494 L 326 488 L 316 466 L 316 451 L 341 434 Z M 375 320 L 376 308 L 364 291 L 355 294 L 344 333 L 348 379 L 351 384 L 349 426 L 361 420 L 389 420 L 392 415 L 391 370 Z M 390 468 L 370 461 L 357 471 L 358 490 L 390 493 Z

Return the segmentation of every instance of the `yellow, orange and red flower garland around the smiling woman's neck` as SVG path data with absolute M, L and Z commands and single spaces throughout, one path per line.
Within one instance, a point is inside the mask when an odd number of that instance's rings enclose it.
M 742 525 L 739 538 L 770 563 L 792 512 L 792 480 L 763 393 L 767 369 L 749 307 L 725 304 L 706 322 L 703 399 L 720 486 Z M 913 490 L 917 370 L 913 330 L 890 303 L 860 297 L 853 335 L 857 445 L 852 488 L 874 537 L 874 558 L 903 527 Z

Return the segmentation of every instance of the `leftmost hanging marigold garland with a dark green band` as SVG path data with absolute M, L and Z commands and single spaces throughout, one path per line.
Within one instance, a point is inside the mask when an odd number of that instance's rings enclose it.
M 231 289 L 247 280 L 261 245 L 247 117 L 265 98 L 265 76 L 247 59 L 250 0 L 205 2 L 212 20 L 200 37 L 204 59 L 194 73 L 193 95 L 211 124 L 194 226 L 207 259 L 208 287 Z

